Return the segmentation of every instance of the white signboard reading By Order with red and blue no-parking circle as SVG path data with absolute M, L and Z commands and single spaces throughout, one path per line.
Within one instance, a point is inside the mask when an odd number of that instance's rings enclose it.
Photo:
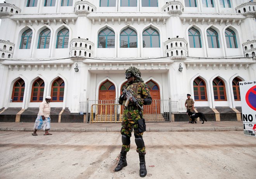
M 244 135 L 256 136 L 256 80 L 240 81 Z

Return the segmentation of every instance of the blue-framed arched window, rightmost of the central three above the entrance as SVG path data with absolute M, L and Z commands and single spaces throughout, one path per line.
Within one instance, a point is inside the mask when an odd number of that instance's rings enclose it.
M 157 48 L 160 47 L 159 33 L 153 29 L 148 28 L 142 33 L 143 48 Z

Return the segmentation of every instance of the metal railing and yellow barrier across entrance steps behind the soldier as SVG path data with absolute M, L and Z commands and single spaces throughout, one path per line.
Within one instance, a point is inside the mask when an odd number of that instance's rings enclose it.
M 121 122 L 124 106 L 117 100 L 87 100 L 80 102 L 80 113 L 88 114 L 87 122 Z M 143 117 L 147 122 L 171 121 L 171 113 L 178 111 L 178 102 L 152 100 L 151 105 L 143 106 Z

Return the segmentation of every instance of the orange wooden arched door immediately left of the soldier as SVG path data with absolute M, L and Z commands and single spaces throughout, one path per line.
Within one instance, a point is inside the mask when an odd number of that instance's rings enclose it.
M 114 104 L 116 98 L 116 87 L 114 84 L 106 80 L 100 84 L 99 88 L 99 104 Z M 110 111 L 114 111 L 114 107 L 102 105 L 102 113 L 110 114 Z

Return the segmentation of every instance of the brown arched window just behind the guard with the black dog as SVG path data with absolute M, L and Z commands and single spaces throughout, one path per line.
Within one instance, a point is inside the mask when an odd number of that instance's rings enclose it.
M 207 101 L 206 85 L 204 80 L 197 77 L 193 82 L 195 101 Z

